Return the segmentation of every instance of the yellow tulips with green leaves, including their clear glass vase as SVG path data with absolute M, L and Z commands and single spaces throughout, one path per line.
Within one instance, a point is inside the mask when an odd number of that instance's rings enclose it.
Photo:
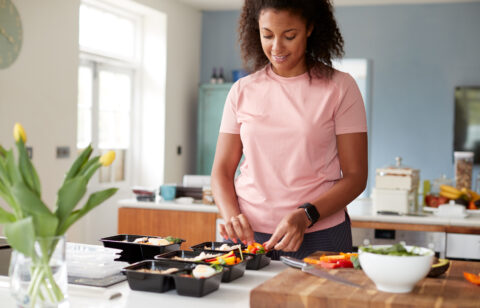
M 40 180 L 28 157 L 27 138 L 20 124 L 15 124 L 13 135 L 17 161 L 12 149 L 7 151 L 0 145 L 0 197 L 11 208 L 7 211 L 0 207 L 0 223 L 4 224 L 4 234 L 13 248 L 12 294 L 21 306 L 56 306 L 66 297 L 64 234 L 117 191 L 109 188 L 95 192 L 76 209 L 90 178 L 100 166 L 113 162 L 115 152 L 90 158 L 92 147 L 83 150 L 66 173 L 52 211 L 42 201 Z

